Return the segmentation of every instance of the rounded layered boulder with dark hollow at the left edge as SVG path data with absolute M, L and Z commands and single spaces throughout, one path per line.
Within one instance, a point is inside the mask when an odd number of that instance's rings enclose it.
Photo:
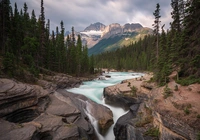
M 0 117 L 11 122 L 28 122 L 44 112 L 49 92 L 36 85 L 0 79 Z

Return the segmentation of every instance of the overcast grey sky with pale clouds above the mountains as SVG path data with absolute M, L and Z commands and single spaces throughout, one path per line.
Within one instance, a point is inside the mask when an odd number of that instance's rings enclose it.
M 18 9 L 27 3 L 29 13 L 34 9 L 37 17 L 40 14 L 41 0 L 10 0 L 11 5 L 17 3 Z M 51 30 L 60 27 L 63 20 L 65 31 L 74 26 L 76 31 L 83 31 L 95 22 L 105 25 L 111 23 L 140 23 L 152 28 L 153 12 L 156 4 L 161 8 L 161 24 L 169 28 L 171 21 L 171 0 L 44 0 L 45 18 L 50 19 Z

